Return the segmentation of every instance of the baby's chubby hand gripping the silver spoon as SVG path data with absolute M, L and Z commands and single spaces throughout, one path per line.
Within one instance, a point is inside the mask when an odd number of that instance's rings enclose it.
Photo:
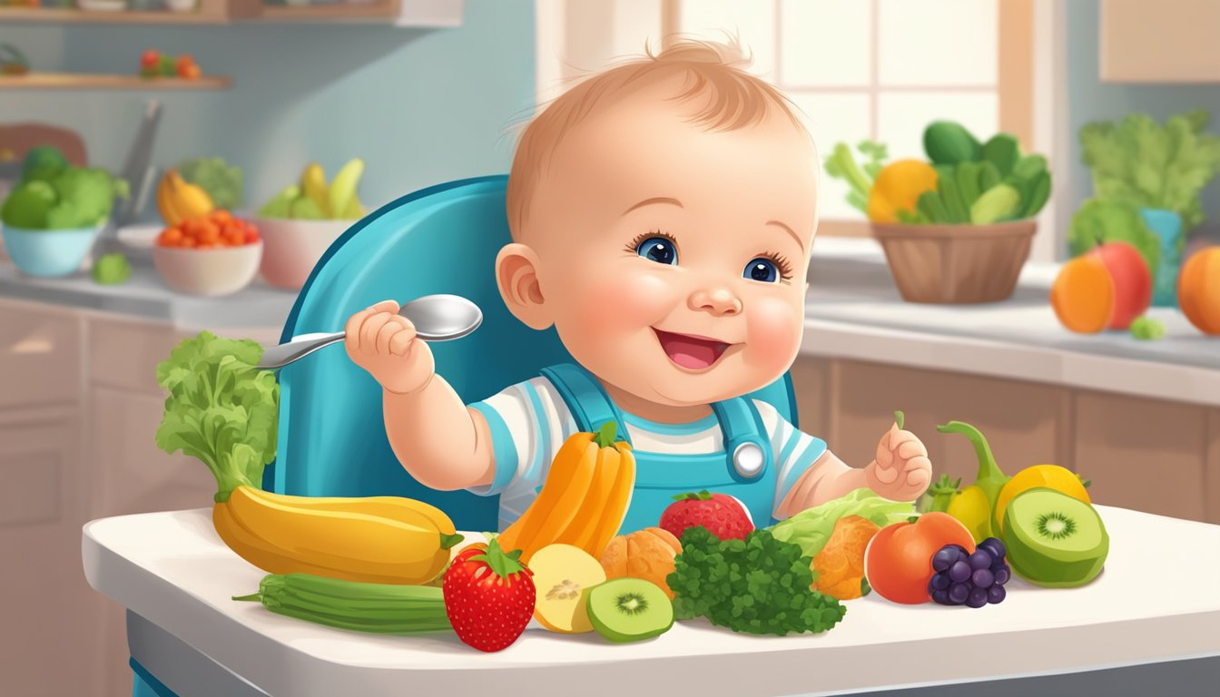
M 411 320 L 398 314 L 394 300 L 383 300 L 348 320 L 343 345 L 353 363 L 381 386 L 399 394 L 416 392 L 436 372 L 432 349 L 416 338 Z

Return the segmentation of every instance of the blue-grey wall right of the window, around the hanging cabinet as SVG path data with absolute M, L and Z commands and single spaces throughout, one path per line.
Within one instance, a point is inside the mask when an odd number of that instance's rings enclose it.
M 1068 107 L 1071 122 L 1071 195 L 1080 201 L 1093 194 L 1088 167 L 1081 162 L 1080 128 L 1089 121 L 1116 121 L 1138 111 L 1158 121 L 1190 109 L 1211 112 L 1213 133 L 1220 133 L 1220 84 L 1103 84 L 1099 79 L 1100 17 L 1098 0 L 1070 0 L 1068 11 Z M 1204 190 L 1207 227 L 1220 226 L 1220 179 Z

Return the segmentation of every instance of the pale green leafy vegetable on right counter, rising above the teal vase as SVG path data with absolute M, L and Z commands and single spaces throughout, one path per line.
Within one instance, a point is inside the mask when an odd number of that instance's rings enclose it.
M 1191 229 L 1203 222 L 1199 192 L 1220 173 L 1220 137 L 1204 133 L 1211 115 L 1202 109 L 1159 126 L 1147 114 L 1080 129 L 1094 195 L 1133 208 L 1176 211 Z

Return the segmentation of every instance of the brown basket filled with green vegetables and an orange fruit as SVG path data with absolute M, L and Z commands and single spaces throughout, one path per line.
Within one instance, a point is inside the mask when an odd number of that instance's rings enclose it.
M 826 171 L 847 181 L 909 303 L 993 303 L 1016 288 L 1035 217 L 1050 195 L 1042 155 L 998 133 L 980 142 L 960 123 L 924 131 L 926 159 L 887 162 L 884 145 L 836 145 Z

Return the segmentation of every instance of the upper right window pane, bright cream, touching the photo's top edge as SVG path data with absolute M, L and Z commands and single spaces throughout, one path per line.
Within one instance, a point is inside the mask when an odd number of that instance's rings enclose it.
M 892 85 L 993 85 L 997 0 L 880 0 L 878 78 Z

